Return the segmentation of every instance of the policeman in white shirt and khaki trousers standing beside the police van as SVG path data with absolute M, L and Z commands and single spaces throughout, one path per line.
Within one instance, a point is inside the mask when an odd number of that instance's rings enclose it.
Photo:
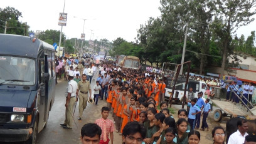
M 65 121 L 63 124 L 60 124 L 65 129 L 72 129 L 72 122 L 73 116 L 72 111 L 76 101 L 76 94 L 77 94 L 77 82 L 73 80 L 73 73 L 70 71 L 68 73 L 68 87 L 66 93 L 66 114 L 65 114 Z

